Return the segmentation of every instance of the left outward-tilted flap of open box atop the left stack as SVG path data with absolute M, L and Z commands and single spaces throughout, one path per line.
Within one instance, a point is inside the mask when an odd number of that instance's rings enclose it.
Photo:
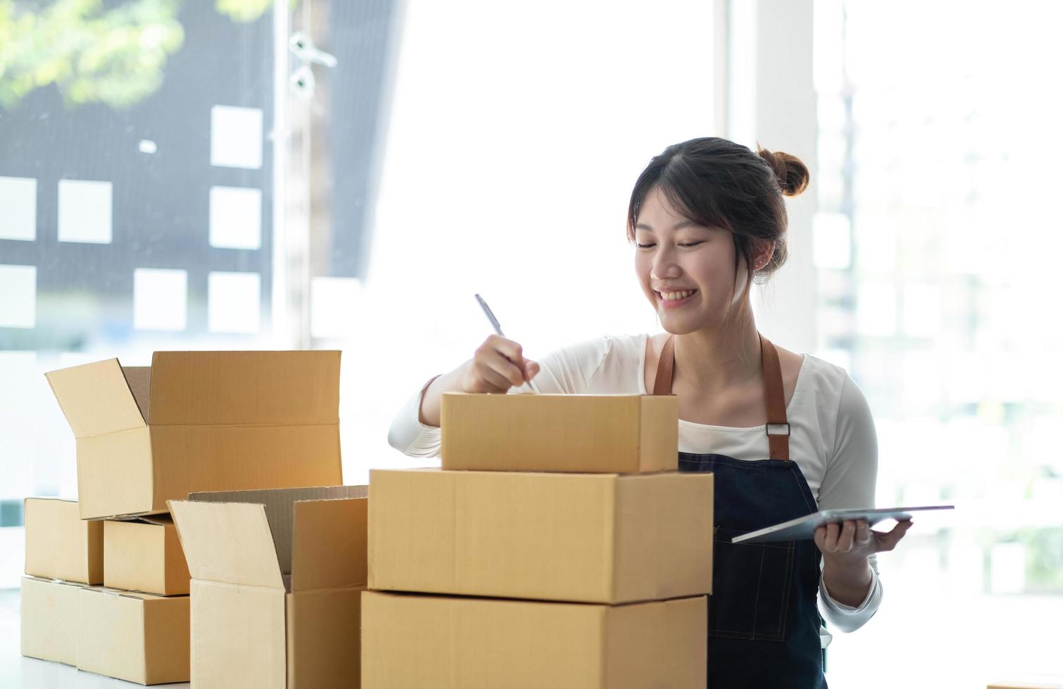
M 147 425 L 134 397 L 134 388 L 141 394 L 147 392 L 145 375 L 142 369 L 130 371 L 135 386 L 116 358 L 45 374 L 75 438 Z

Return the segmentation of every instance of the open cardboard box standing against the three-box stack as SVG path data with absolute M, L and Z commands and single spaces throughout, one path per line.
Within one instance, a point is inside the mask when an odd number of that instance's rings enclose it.
M 170 502 L 192 575 L 193 686 L 358 686 L 367 494 L 339 486 Z

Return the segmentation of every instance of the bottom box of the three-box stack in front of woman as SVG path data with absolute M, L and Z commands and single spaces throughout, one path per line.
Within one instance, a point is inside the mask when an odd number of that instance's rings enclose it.
M 375 497 L 374 497 L 375 500 Z M 370 591 L 365 689 L 704 689 L 704 595 L 622 606 Z

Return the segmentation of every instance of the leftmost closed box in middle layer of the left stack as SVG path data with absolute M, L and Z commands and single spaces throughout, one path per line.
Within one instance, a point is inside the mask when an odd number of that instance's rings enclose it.
M 70 500 L 27 498 L 23 509 L 27 574 L 103 583 L 103 524 L 82 521 Z

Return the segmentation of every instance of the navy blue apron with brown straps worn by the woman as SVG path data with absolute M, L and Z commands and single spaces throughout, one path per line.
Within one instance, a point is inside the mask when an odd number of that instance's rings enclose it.
M 715 474 L 715 550 L 709 598 L 709 687 L 817 689 L 827 686 L 816 609 L 820 550 L 810 540 L 731 543 L 735 536 L 816 511 L 790 459 L 778 351 L 760 338 L 769 459 L 679 453 L 679 471 Z M 654 394 L 672 393 L 675 340 L 661 351 Z

